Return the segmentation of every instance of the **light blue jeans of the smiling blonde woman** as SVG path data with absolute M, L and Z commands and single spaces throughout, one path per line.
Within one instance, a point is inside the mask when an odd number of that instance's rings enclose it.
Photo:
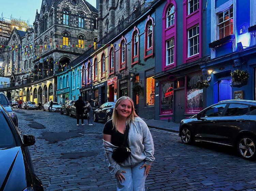
M 144 161 L 138 163 L 132 167 L 121 166 L 121 170 L 126 171 L 122 173 L 125 177 L 123 182 L 117 180 L 117 191 L 144 191 L 145 190 L 145 180 L 144 176 L 145 167 L 139 169 L 144 164 Z

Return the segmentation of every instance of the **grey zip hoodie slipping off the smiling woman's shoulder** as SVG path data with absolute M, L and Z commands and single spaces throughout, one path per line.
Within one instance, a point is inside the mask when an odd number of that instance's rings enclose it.
M 110 142 L 103 140 L 106 155 L 108 157 L 108 169 L 110 174 L 115 175 L 121 172 L 120 165 L 134 166 L 145 160 L 146 165 L 151 165 L 154 161 L 154 143 L 147 124 L 140 117 L 135 117 L 134 123 L 130 124 L 128 143 L 131 149 L 131 155 L 121 164 L 112 158 L 113 150 L 118 148 Z

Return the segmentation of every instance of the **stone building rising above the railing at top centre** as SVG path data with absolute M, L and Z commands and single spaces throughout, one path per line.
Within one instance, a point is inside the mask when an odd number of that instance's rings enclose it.
M 97 0 L 99 1 L 99 39 L 118 26 L 145 0 Z

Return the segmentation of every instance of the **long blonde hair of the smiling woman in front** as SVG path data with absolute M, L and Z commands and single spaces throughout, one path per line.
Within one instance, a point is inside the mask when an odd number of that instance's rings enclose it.
M 112 122 L 113 122 L 113 129 L 115 128 L 117 131 L 117 126 L 118 126 L 118 113 L 117 113 L 117 107 L 120 105 L 120 103 L 124 100 L 128 99 L 131 103 L 132 103 L 132 112 L 131 114 L 127 117 L 127 123 L 130 124 L 131 122 L 134 122 L 134 117 L 138 117 L 138 115 L 135 113 L 135 109 L 134 109 L 134 103 L 133 100 L 130 97 L 127 96 L 123 96 L 120 97 L 116 104 L 115 104 L 115 108 L 112 114 Z

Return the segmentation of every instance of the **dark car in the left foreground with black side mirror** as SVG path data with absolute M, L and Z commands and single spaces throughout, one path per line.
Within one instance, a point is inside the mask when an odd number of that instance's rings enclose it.
M 35 137 L 22 135 L 2 106 L 0 121 L 0 190 L 43 190 L 28 149 L 35 144 Z

